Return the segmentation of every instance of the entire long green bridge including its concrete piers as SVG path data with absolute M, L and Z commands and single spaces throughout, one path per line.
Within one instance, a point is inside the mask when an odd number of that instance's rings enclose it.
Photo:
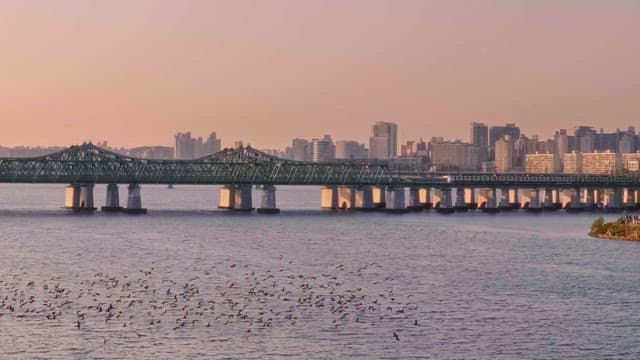
M 33 158 L 0 158 L 2 183 L 67 184 L 65 207 L 93 210 L 93 187 L 107 184 L 104 211 L 145 212 L 145 184 L 222 185 L 220 208 L 253 209 L 252 187 L 262 189 L 259 212 L 278 212 L 278 185 L 322 186 L 323 208 L 488 212 L 605 207 L 637 209 L 640 178 L 631 175 L 402 173 L 385 163 L 312 163 L 280 159 L 251 147 L 225 149 L 195 160 L 150 160 L 117 154 L 91 143 Z M 128 185 L 127 207 L 119 184 Z M 409 204 L 405 205 L 405 189 Z

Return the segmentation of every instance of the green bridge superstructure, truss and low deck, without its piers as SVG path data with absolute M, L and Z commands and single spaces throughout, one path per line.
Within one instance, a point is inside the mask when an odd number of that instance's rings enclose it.
M 252 184 L 405 187 L 640 187 L 632 175 L 400 173 L 386 164 L 311 163 L 280 159 L 251 147 L 195 160 L 148 160 L 91 143 L 41 157 L 0 158 L 2 183 Z

